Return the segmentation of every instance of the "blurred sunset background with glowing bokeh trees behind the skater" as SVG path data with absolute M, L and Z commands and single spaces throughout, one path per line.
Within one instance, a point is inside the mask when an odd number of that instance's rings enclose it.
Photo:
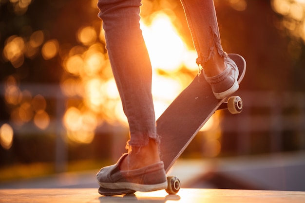
M 224 50 L 247 61 L 244 110 L 217 111 L 171 173 L 183 187 L 305 191 L 305 0 L 214 2 Z M 197 55 L 179 0 L 142 3 L 159 117 Z M 97 187 L 125 152 L 96 4 L 0 0 L 0 188 Z

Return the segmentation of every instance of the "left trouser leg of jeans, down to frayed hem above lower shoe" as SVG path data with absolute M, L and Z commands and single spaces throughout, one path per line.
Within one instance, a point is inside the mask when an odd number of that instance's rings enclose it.
M 153 143 L 149 138 L 159 142 L 151 93 L 152 67 L 139 24 L 140 5 L 141 0 L 98 1 L 109 59 L 130 127 L 128 144 L 137 153 L 138 148 L 145 150 Z

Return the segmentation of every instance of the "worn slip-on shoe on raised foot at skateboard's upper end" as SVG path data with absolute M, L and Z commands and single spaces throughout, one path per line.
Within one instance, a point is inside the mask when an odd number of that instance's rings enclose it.
M 225 66 L 227 67 L 221 74 L 205 78 L 212 88 L 212 91 L 217 99 L 224 99 L 230 94 L 236 92 L 239 88 L 237 78 L 239 75 L 238 67 L 235 62 L 225 57 Z

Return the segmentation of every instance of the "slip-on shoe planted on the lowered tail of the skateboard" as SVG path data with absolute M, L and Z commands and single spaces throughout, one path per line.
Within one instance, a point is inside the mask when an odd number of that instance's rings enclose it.
M 120 164 L 127 155 L 124 154 L 115 165 L 103 167 L 96 174 L 96 180 L 100 187 L 141 192 L 167 188 L 163 162 L 134 170 L 120 170 Z

